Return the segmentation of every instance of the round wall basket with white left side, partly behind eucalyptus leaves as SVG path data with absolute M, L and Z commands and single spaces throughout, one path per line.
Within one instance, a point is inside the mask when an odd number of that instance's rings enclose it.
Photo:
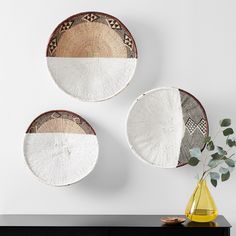
M 154 89 L 132 105 L 127 135 L 141 160 L 155 167 L 179 167 L 188 162 L 191 148 L 204 148 L 207 116 L 193 95 L 177 88 Z

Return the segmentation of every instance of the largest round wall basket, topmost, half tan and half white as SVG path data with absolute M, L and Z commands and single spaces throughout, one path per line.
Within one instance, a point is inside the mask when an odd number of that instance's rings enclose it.
M 117 18 L 100 12 L 69 17 L 52 33 L 47 63 L 57 85 L 82 101 L 113 97 L 130 82 L 137 48 Z

